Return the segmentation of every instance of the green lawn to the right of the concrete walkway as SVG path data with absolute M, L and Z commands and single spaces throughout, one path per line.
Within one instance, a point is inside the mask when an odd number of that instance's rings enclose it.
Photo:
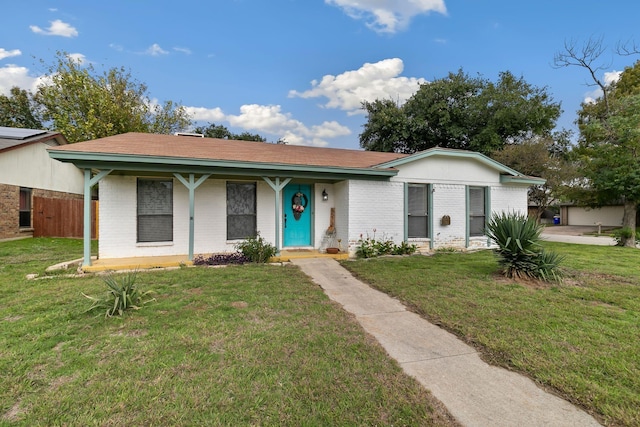
M 490 251 L 345 262 L 361 279 L 609 425 L 640 425 L 640 251 L 545 243 L 562 284 L 496 275 Z

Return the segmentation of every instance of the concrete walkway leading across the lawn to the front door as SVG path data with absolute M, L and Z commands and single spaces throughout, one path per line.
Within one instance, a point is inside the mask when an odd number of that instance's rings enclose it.
M 355 279 L 331 259 L 292 262 L 356 316 L 404 371 L 465 426 L 597 426 L 593 417 L 531 380 L 483 362 L 457 337 Z

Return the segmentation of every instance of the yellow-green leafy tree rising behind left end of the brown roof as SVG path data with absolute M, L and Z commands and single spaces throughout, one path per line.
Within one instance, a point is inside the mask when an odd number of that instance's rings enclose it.
M 93 65 L 62 52 L 48 68 L 48 84 L 38 88 L 35 101 L 43 119 L 69 142 L 125 132 L 173 133 L 191 124 L 184 107 L 154 103 L 147 86 L 124 68 L 99 74 Z

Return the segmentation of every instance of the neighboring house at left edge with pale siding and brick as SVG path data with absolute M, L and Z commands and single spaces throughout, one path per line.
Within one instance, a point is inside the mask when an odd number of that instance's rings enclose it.
M 34 198 L 82 199 L 82 172 L 47 153 L 66 144 L 58 132 L 0 127 L 0 239 L 32 235 Z

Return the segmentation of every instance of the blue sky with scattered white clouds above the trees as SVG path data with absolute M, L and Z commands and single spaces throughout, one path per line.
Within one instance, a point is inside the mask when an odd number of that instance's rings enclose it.
M 554 69 L 565 41 L 637 37 L 640 2 L 517 0 L 2 1 L 0 93 L 35 87 L 56 51 L 124 66 L 158 101 L 269 141 L 358 148 L 363 100 L 403 101 L 462 68 L 511 71 L 561 101 L 573 128 L 585 70 Z M 620 71 L 637 58 L 607 52 Z M 604 78 L 604 75 L 599 76 Z

